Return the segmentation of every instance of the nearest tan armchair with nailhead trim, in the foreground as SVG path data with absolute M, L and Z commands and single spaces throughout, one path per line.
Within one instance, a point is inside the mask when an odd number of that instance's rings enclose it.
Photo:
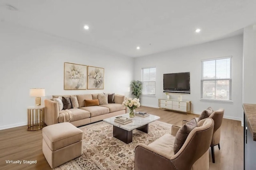
M 175 135 L 180 127 L 172 126 L 171 134 L 165 134 L 149 145 L 135 148 L 135 170 L 206 170 L 209 168 L 209 147 L 214 121 L 211 118 L 198 122 L 188 135 L 184 145 L 174 154 Z

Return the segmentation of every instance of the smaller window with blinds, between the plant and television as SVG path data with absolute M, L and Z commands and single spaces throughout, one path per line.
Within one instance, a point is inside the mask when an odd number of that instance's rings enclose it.
M 156 94 L 156 67 L 141 68 L 142 94 Z

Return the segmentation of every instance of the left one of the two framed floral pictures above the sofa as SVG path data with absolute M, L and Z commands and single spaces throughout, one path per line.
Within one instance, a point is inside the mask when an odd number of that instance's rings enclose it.
M 86 90 L 86 65 L 64 63 L 64 90 Z

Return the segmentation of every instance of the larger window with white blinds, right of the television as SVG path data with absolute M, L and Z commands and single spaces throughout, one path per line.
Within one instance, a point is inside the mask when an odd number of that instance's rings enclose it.
M 232 56 L 202 60 L 201 99 L 231 100 Z

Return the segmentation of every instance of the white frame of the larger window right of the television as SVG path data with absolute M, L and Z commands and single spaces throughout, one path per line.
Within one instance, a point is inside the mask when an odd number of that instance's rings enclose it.
M 215 79 L 204 79 L 204 62 L 205 61 L 215 61 L 220 60 L 220 59 L 230 59 L 230 78 L 216 78 L 216 63 L 215 63 Z M 214 59 L 205 59 L 201 60 L 201 99 L 202 101 L 214 101 L 214 102 L 232 102 L 232 56 L 227 56 L 227 57 L 219 57 L 219 58 L 214 58 Z M 218 80 L 229 80 L 229 99 L 228 100 L 220 100 L 220 99 L 207 99 L 203 98 L 203 92 L 204 92 L 204 81 L 215 81 L 215 89 L 216 89 L 216 82 Z M 216 93 L 215 93 L 215 98 L 216 98 Z

